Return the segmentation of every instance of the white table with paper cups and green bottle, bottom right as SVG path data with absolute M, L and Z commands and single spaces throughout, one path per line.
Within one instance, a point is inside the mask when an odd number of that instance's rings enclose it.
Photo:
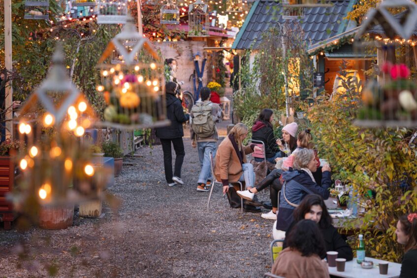
M 374 268 L 364 269 L 360 264 L 356 263 L 356 258 L 353 258 L 352 261 L 346 262 L 344 272 L 338 272 L 336 267 L 329 267 L 329 274 L 344 278 L 395 278 L 400 276 L 401 264 L 388 262 L 388 274 L 381 275 L 378 263 L 385 261 L 369 257 L 366 257 L 366 260 L 372 261 L 374 263 Z

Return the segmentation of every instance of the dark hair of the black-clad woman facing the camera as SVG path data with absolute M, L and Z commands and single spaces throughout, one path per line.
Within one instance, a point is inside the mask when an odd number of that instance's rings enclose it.
M 323 210 L 321 212 L 321 218 L 319 222 L 319 227 L 321 229 L 326 229 L 331 225 L 331 217 L 329 212 L 327 211 L 326 204 L 324 204 L 323 198 L 317 194 L 308 194 L 304 197 L 303 201 L 301 201 L 300 205 L 294 209 L 292 215 L 294 216 L 294 221 L 298 222 L 304 219 L 304 215 L 310 211 L 311 207 L 313 206 L 320 206 Z

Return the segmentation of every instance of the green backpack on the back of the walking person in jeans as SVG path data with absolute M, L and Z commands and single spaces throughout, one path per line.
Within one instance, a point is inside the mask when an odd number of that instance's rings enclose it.
M 208 138 L 213 136 L 216 131 L 216 126 L 211 116 L 213 106 L 211 102 L 204 104 L 203 102 L 194 104 L 192 106 L 192 130 L 199 138 Z

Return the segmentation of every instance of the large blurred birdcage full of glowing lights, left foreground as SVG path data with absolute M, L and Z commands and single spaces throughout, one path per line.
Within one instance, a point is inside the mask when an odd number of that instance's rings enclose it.
M 104 180 L 93 166 L 88 141 L 80 140 L 95 121 L 94 111 L 68 79 L 60 45 L 52 61 L 18 117 L 19 139 L 27 142 L 18 154 L 24 172 L 18 199 L 56 206 L 97 198 Z

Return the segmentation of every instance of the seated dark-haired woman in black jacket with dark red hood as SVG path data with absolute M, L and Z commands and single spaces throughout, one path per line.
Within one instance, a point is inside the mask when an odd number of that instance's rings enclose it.
M 273 119 L 274 112 L 271 109 L 262 109 L 252 127 L 252 139 L 262 141 L 265 144 L 266 160 L 275 164 L 275 159 L 281 157 L 281 151 L 274 136 Z M 255 161 L 262 162 L 263 159 L 255 158 Z

